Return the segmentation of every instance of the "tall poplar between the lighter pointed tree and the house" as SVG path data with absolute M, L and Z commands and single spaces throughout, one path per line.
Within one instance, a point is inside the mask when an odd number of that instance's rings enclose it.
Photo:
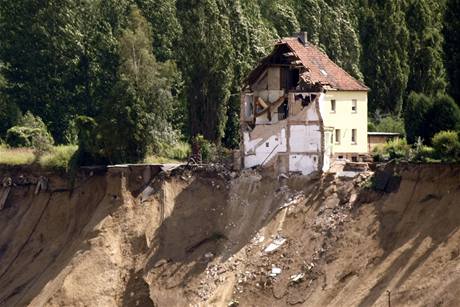
M 220 142 L 233 79 L 227 6 L 221 0 L 178 0 L 183 37 L 177 62 L 185 81 L 190 135 Z

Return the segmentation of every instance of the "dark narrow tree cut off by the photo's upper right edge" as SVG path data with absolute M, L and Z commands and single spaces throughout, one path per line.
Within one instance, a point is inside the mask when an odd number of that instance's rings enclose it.
M 444 53 L 449 93 L 460 103 L 460 0 L 447 0 L 444 15 Z

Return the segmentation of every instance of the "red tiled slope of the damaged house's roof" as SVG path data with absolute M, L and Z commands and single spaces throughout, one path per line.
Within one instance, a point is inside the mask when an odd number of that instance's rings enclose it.
M 369 88 L 353 78 L 311 43 L 304 46 L 297 37 L 283 38 L 278 45 L 286 44 L 307 68 L 309 81 L 329 85 L 342 91 L 368 91 Z

